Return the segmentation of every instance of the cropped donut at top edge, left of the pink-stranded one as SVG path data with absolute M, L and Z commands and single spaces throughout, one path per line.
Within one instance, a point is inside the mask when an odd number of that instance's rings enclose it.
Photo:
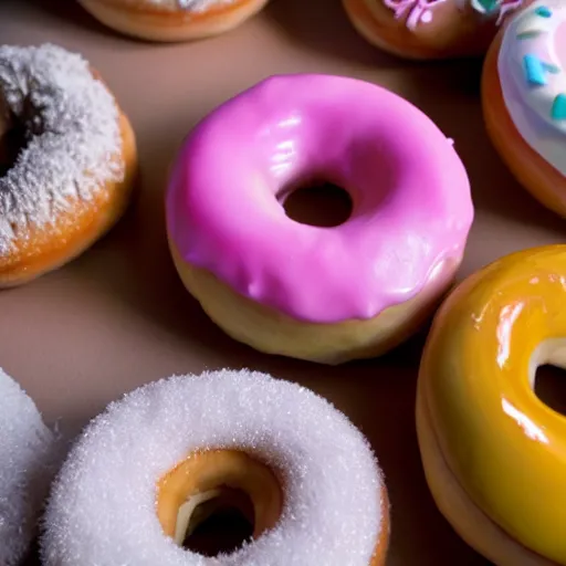
M 78 0 L 113 30 L 149 41 L 189 41 L 224 33 L 268 0 Z

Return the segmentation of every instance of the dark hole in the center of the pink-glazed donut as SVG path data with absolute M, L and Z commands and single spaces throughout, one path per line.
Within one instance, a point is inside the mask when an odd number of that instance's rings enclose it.
M 354 209 L 348 191 L 324 179 L 285 187 L 277 200 L 295 222 L 321 228 L 344 224 Z

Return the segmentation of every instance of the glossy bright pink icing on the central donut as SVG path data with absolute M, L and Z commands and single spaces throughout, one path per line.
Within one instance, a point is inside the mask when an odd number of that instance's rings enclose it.
M 336 228 L 291 220 L 276 195 L 316 176 L 349 191 Z M 189 264 L 296 319 L 370 318 L 460 260 L 473 219 L 450 142 L 399 96 L 354 78 L 271 77 L 185 142 L 167 192 Z

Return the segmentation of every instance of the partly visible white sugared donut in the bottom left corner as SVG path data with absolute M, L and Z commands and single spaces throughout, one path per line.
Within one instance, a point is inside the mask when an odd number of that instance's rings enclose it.
M 0 564 L 21 564 L 54 474 L 56 439 L 33 401 L 0 369 Z

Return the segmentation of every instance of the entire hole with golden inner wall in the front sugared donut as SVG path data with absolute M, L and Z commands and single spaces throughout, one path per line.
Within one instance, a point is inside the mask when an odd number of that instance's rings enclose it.
M 213 557 L 273 528 L 282 500 L 266 465 L 237 450 L 211 450 L 190 454 L 159 480 L 157 516 L 176 544 Z

